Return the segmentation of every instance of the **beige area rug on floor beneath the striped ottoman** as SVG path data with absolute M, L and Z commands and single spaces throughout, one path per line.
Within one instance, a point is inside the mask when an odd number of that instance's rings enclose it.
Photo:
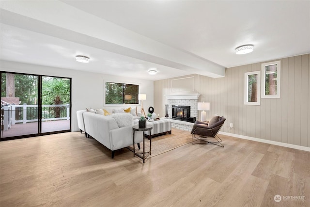
M 149 157 L 154 157 L 165 152 L 171 151 L 175 148 L 183 146 L 187 143 L 191 143 L 191 134 L 189 131 L 184 131 L 181 129 L 172 128 L 171 134 L 165 134 L 152 138 L 152 155 Z M 145 151 L 150 149 L 150 140 L 145 138 Z M 128 147 L 129 150 L 133 151 L 132 145 Z M 137 144 L 135 145 L 136 152 L 143 152 L 143 143 L 140 143 L 140 150 Z

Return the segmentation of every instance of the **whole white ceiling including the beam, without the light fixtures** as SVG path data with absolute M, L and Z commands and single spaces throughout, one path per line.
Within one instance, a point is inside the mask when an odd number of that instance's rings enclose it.
M 310 1 L 0 1 L 0 59 L 160 80 L 310 53 Z M 236 55 L 236 47 L 254 51 Z M 89 64 L 74 61 L 91 58 Z M 148 75 L 149 68 L 157 75 Z

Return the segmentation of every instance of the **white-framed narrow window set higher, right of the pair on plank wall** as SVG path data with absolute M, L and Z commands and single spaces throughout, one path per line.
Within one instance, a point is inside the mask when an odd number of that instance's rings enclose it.
M 262 98 L 280 97 L 281 62 L 262 64 Z

